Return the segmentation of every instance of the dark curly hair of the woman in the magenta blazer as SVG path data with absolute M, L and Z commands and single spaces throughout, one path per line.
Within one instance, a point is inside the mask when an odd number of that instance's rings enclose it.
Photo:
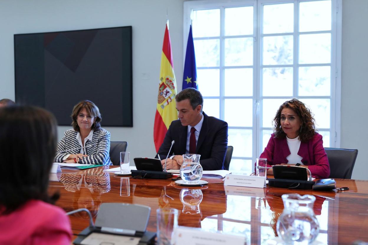
M 272 120 L 275 137 L 279 139 L 286 137 L 286 133 L 284 133 L 281 127 L 281 111 L 284 108 L 292 109 L 300 118 L 302 123 L 299 132 L 300 141 L 307 142 L 308 140 L 312 139 L 314 134 L 317 132 L 315 129 L 315 120 L 309 108 L 307 108 L 303 102 L 296 98 L 285 101 L 277 110 L 275 118 Z

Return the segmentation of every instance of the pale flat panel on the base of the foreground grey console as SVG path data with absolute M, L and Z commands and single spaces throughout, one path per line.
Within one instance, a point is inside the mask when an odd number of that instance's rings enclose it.
M 141 238 L 127 237 L 122 235 L 96 233 L 88 235 L 84 238 L 81 244 L 85 245 L 100 245 L 100 244 L 114 244 L 114 245 L 137 245 Z

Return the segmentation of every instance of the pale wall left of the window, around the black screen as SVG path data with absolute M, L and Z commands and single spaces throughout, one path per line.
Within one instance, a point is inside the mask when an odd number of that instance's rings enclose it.
M 127 150 L 131 152 L 131 158 L 154 157 L 153 122 L 166 13 L 170 20 L 174 70 L 180 91 L 183 77 L 183 0 L 1 0 L 0 98 L 15 98 L 14 34 L 131 25 L 134 126 L 106 129 L 110 131 L 112 141 L 128 141 Z M 77 95 L 78 91 L 72 94 Z M 59 139 L 69 128 L 59 127 Z

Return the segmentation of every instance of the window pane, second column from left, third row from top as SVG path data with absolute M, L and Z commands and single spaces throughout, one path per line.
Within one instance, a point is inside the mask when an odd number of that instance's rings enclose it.
M 253 69 L 225 69 L 225 96 L 252 96 Z

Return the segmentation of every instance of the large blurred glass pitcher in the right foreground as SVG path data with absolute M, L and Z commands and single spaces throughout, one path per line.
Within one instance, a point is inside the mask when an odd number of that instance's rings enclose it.
M 285 244 L 311 244 L 319 232 L 313 211 L 316 198 L 311 195 L 282 195 L 284 210 L 277 220 L 276 231 Z

